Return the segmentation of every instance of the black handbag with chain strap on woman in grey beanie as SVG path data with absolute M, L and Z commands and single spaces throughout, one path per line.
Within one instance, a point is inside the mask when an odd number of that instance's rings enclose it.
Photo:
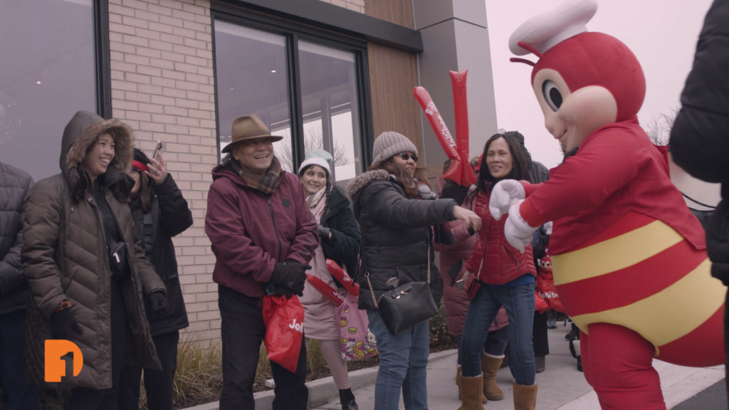
M 364 255 L 362 255 L 364 263 Z M 372 301 L 378 309 L 390 333 L 397 335 L 438 314 L 438 306 L 430 293 L 430 244 L 428 244 L 428 282 L 409 282 L 389 290 L 380 297 L 378 303 L 370 283 L 370 272 L 364 264 L 364 276 L 370 285 Z

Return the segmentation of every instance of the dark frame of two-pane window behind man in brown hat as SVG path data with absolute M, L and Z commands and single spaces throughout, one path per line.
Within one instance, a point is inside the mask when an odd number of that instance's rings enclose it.
M 336 34 L 319 28 L 304 26 L 289 20 L 273 18 L 268 15 L 261 15 L 246 9 L 230 7 L 225 4 L 211 3 L 211 36 L 213 45 L 213 76 L 215 82 L 215 128 L 217 135 L 216 147 L 218 163 L 221 163 L 220 154 L 220 122 L 218 115 L 218 80 L 217 80 L 217 58 L 215 42 L 215 22 L 222 20 L 226 23 L 233 23 L 256 30 L 267 31 L 272 34 L 284 36 L 286 41 L 286 71 L 287 88 L 289 93 L 289 116 L 291 117 L 291 146 L 293 167 L 298 169 L 305 157 L 304 152 L 304 118 L 303 102 L 301 92 L 301 77 L 299 70 L 299 47 L 298 40 L 314 42 L 326 47 L 332 47 L 348 53 L 354 53 L 354 64 L 356 71 L 356 87 L 359 101 L 359 124 L 360 124 L 360 150 L 362 152 L 362 163 L 359 164 L 360 171 L 367 170 L 367 164 L 371 162 L 373 137 L 372 106 L 370 104 L 370 75 L 369 63 L 367 61 L 367 42 L 361 39 Z

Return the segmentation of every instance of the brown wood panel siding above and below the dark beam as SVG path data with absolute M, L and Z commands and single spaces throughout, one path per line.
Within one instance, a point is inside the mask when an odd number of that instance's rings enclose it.
M 408 28 L 413 27 L 410 0 L 365 0 L 364 12 Z M 391 47 L 367 44 L 374 137 L 397 131 L 421 148 L 420 107 L 413 88 L 418 85 L 416 55 Z

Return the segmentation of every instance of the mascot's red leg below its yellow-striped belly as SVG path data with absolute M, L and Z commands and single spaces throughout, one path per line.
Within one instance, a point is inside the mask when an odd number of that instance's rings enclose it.
M 581 340 L 582 369 L 602 409 L 666 410 L 653 345 L 623 326 L 593 323 L 589 332 Z

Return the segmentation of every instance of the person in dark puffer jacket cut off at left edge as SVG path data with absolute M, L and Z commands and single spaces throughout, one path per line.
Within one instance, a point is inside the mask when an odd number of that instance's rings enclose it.
M 38 387 L 23 380 L 28 283 L 23 274 L 24 201 L 33 179 L 0 163 L 0 379 L 10 409 L 40 409 Z

